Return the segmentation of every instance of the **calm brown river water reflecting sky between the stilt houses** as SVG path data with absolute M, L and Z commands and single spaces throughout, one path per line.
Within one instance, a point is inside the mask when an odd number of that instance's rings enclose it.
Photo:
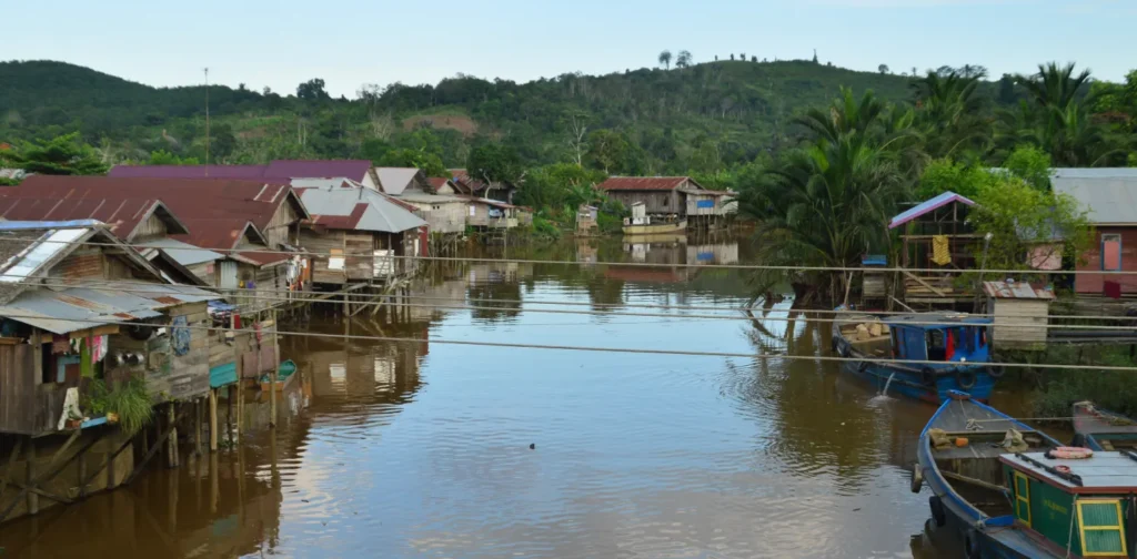
M 737 310 L 608 307 L 737 309 L 740 272 L 591 264 L 749 252 L 731 239 L 509 248 L 582 264 L 446 262 L 398 320 L 314 311 L 283 327 L 340 336 L 284 339 L 302 376 L 275 432 L 250 404 L 235 450 L 9 523 L 0 558 L 958 557 L 923 533 L 927 490 L 908 491 L 935 409 L 831 362 L 441 343 L 828 354 L 827 325 L 788 302 L 764 314 L 795 320 L 762 328 Z M 1022 409 L 1006 392 L 993 403 Z

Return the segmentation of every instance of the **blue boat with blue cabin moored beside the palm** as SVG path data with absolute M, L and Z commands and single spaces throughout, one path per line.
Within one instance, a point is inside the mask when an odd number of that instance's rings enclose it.
M 990 318 L 962 314 L 921 312 L 881 319 L 843 312 L 833 320 L 832 348 L 849 359 L 841 361 L 841 370 L 872 382 L 882 393 L 938 404 L 951 391 L 961 391 L 986 401 L 1003 375 L 1002 368 L 989 364 L 990 326 Z

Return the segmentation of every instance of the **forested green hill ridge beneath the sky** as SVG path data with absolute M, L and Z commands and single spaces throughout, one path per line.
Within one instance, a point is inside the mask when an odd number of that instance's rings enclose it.
M 590 133 L 611 130 L 626 140 L 634 157 L 621 170 L 682 172 L 695 159 L 731 164 L 780 149 L 794 136 L 792 116 L 829 102 L 841 86 L 907 102 L 910 81 L 810 61 L 731 60 L 522 84 L 458 76 L 352 101 L 331 99 L 322 82 L 301 87 L 302 98 L 214 85 L 213 156 L 379 159 L 409 148 L 460 166 L 471 145 L 492 139 L 543 164 L 574 157 L 575 119 Z M 204 158 L 204 116 L 202 86 L 151 87 L 57 61 L 0 62 L 0 141 L 78 130 L 110 162 L 155 150 Z M 423 127 L 433 128 L 432 145 L 414 134 Z

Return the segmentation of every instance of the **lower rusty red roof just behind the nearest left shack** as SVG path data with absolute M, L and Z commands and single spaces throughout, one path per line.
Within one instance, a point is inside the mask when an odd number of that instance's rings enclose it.
M 121 240 L 128 240 L 139 224 L 150 215 L 166 223 L 171 234 L 185 233 L 186 226 L 164 203 L 155 198 L 122 198 L 108 193 L 105 198 L 59 199 L 27 197 L 17 186 L 5 189 L 0 198 L 0 218 L 9 222 L 69 222 L 98 219 L 107 224 Z

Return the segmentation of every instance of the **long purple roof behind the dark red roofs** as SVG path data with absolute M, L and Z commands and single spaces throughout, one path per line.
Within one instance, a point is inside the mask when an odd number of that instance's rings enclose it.
M 350 178 L 379 190 L 379 175 L 366 159 L 276 159 L 267 165 L 116 165 L 114 178 L 211 178 L 288 183 L 293 178 Z

